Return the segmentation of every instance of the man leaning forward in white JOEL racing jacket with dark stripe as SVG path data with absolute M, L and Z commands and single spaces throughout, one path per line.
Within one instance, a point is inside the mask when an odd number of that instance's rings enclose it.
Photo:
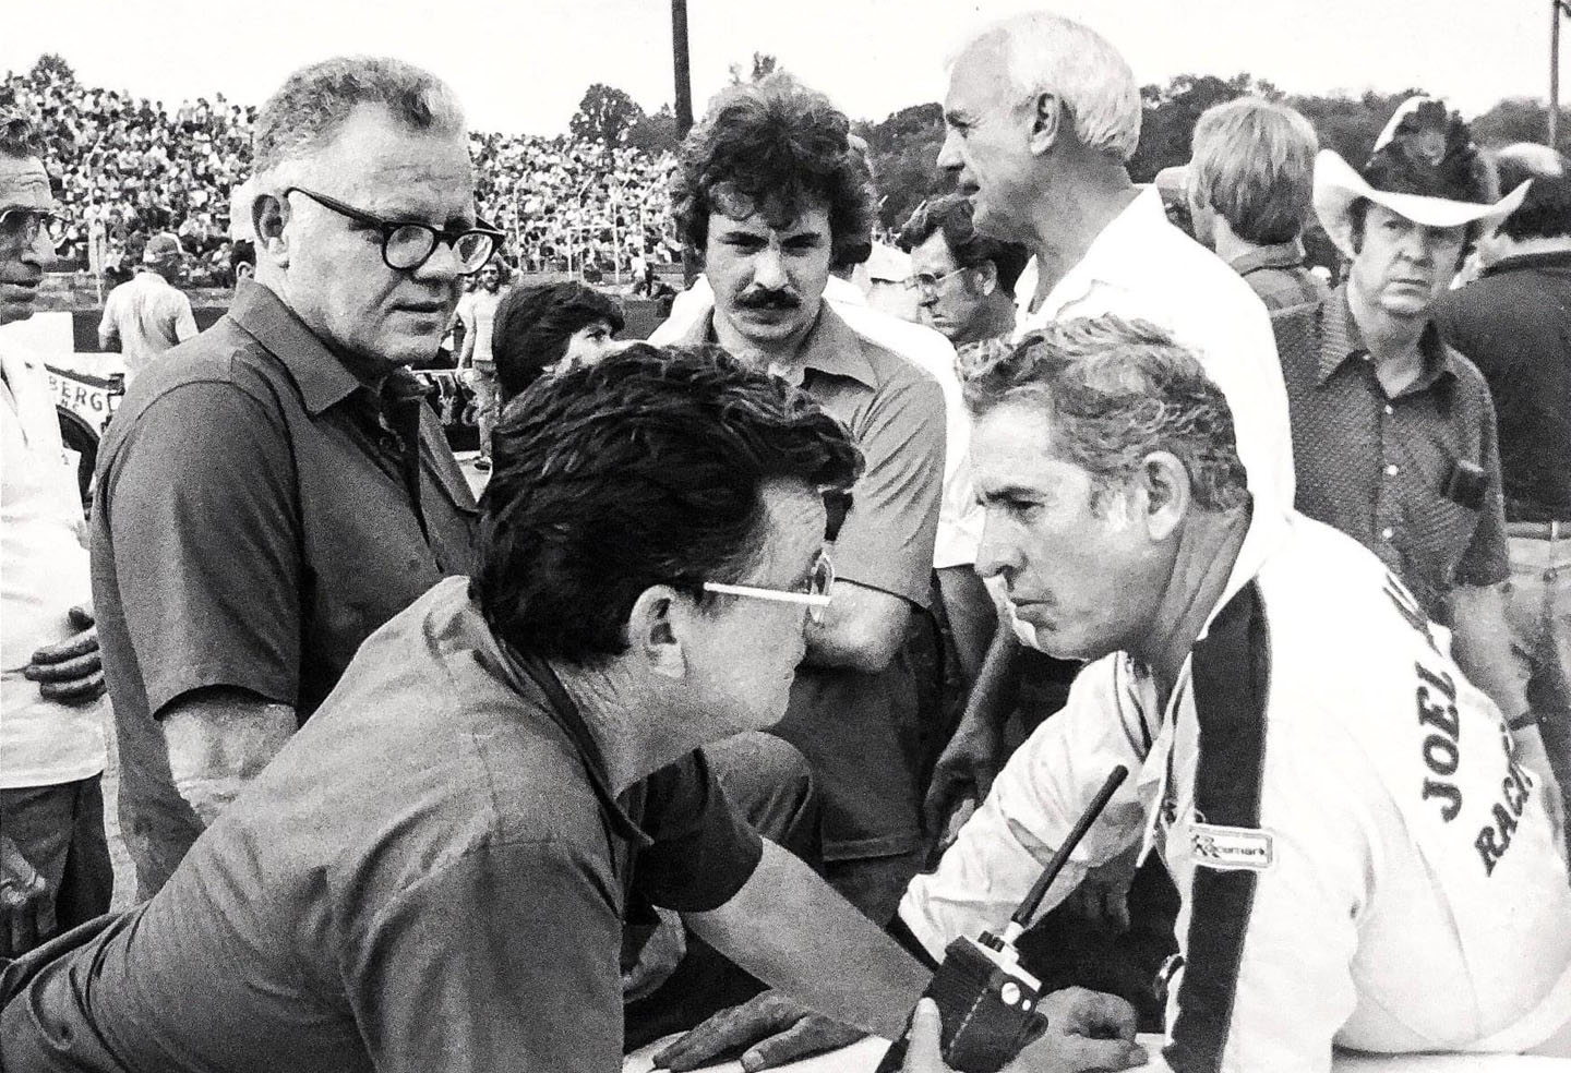
M 966 399 L 977 569 L 1089 665 L 913 880 L 895 936 L 936 963 L 999 933 L 1123 765 L 1048 900 L 1142 847 L 1172 875 L 1183 960 L 1147 1068 L 1327 1073 L 1334 1046 L 1571 1056 L 1571 881 L 1540 784 L 1375 555 L 1254 509 L 1199 360 L 1150 324 L 1062 320 Z M 776 1064 L 845 1040 L 782 999 L 770 1013 L 657 1060 L 694 1068 L 760 1031 L 789 1034 Z

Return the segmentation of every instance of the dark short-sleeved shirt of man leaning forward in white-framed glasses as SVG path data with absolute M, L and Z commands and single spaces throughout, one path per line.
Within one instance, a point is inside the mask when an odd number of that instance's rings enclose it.
M 151 902 L 24 963 L 0 1065 L 613 1073 L 630 892 L 713 910 L 760 853 L 698 753 L 613 797 L 556 677 L 451 578 Z

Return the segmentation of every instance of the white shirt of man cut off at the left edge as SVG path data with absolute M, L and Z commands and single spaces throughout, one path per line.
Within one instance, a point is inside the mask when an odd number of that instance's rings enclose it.
M 77 539 L 82 500 L 60 443 L 47 372 L 0 350 L 0 789 L 58 786 L 104 770 L 99 704 L 46 701 L 22 677 L 33 652 L 75 630 L 66 613 L 93 602 Z

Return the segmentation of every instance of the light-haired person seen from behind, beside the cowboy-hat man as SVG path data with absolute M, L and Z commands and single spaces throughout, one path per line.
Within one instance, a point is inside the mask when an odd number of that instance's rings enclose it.
M 1285 104 L 1238 97 L 1200 113 L 1186 195 L 1196 237 L 1254 287 L 1266 309 L 1324 302 L 1299 236 L 1315 187 L 1315 127 Z

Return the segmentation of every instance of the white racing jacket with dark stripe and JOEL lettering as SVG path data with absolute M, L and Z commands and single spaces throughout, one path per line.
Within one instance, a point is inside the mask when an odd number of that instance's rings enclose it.
M 928 954 L 998 932 L 1123 764 L 1046 905 L 1134 845 L 1183 899 L 1164 1060 L 1329 1070 L 1521 1051 L 1571 1020 L 1571 886 L 1530 773 L 1444 632 L 1370 551 L 1257 518 L 1166 712 L 1087 666 L 900 916 Z

